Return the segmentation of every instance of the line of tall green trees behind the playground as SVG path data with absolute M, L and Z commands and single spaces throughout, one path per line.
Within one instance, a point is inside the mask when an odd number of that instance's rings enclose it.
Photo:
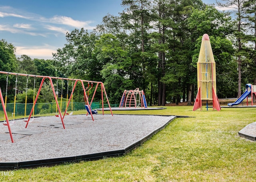
M 52 60 L 16 59 L 15 47 L 2 40 L 0 68 L 101 81 L 111 103 L 119 103 L 124 90 L 140 88 L 150 105 L 191 105 L 202 35 L 207 33 L 218 98 L 239 97 L 245 84 L 256 84 L 256 1 L 218 5 L 236 9 L 222 12 L 201 0 L 122 0 L 119 16 L 104 16 L 91 32 L 81 28 L 66 33 L 67 43 Z M 4 79 L 0 75 L 1 83 Z

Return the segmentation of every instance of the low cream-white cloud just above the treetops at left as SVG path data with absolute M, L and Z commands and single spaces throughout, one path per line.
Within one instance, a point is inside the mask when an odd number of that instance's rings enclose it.
M 52 59 L 52 53 L 56 53 L 57 49 L 57 47 L 52 47 L 50 45 L 32 47 L 16 46 L 16 56 L 20 57 L 21 55 L 27 55 L 32 59 Z

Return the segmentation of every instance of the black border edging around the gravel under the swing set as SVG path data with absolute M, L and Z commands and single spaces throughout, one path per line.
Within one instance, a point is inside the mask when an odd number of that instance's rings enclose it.
M 170 116 L 170 115 L 161 115 L 161 116 Z M 117 157 L 121 155 L 125 155 L 126 153 L 130 152 L 132 149 L 135 149 L 148 139 L 152 137 L 154 134 L 158 133 L 158 131 L 161 131 L 164 129 L 170 122 L 172 122 L 174 119 L 176 119 L 176 116 L 174 116 L 172 119 L 170 119 L 166 124 L 164 124 L 162 127 L 156 129 L 146 137 L 143 137 L 139 141 L 136 141 L 132 145 L 127 146 L 125 149 L 120 150 L 114 150 L 114 151 L 106 151 L 106 152 L 100 152 L 100 153 L 92 153 L 92 154 L 86 154 L 86 155 L 78 155 L 78 156 L 70 156 L 70 157 L 59 157 L 59 158 L 51 158 L 51 159 L 40 159 L 40 160 L 26 160 L 26 161 L 20 161 L 20 162 L 0 162 L 0 170 L 15 170 L 20 168 L 37 168 L 42 166 L 55 166 L 57 164 L 64 164 L 64 163 L 74 163 L 74 162 L 80 162 L 80 161 L 86 161 L 86 160 L 98 160 L 103 159 L 105 157 Z

